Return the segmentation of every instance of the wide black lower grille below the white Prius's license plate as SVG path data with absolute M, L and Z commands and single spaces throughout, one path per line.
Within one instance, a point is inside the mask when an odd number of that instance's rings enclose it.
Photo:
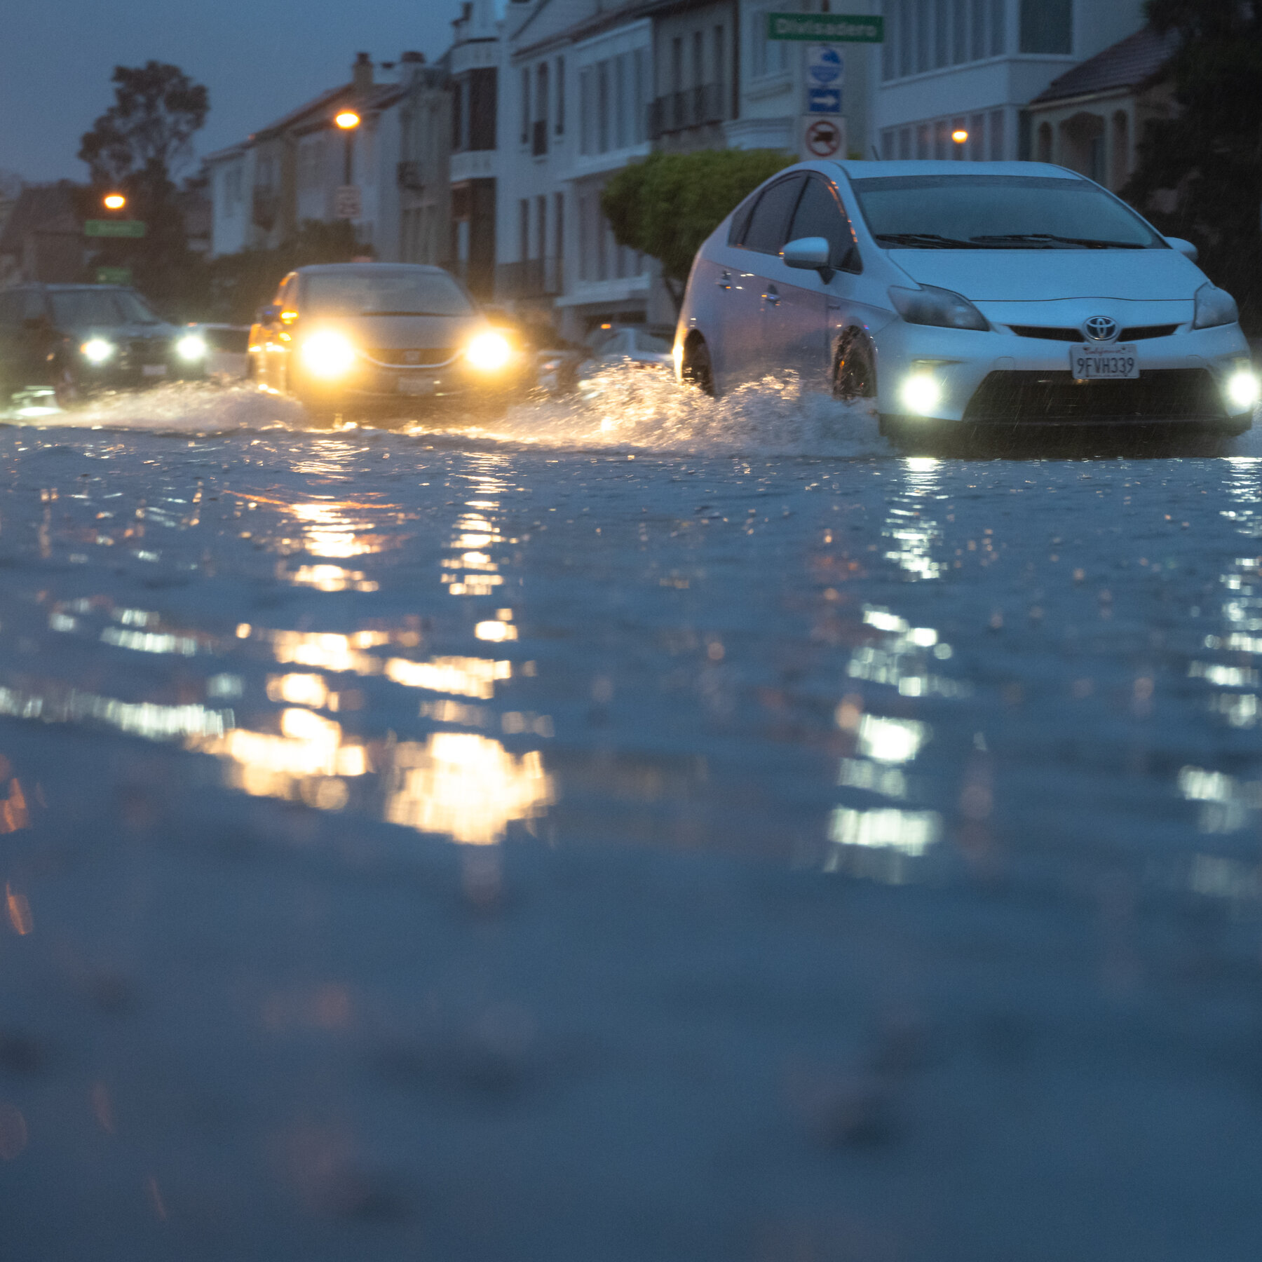
M 979 425 L 1222 420 L 1205 369 L 1152 369 L 1132 381 L 1076 382 L 1069 372 L 991 372 L 964 420 Z

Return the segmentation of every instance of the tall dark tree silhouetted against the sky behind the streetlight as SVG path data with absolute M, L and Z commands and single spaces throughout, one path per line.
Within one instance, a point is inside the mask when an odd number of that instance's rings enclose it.
M 92 261 L 131 268 L 144 293 L 178 305 L 193 284 L 198 260 L 188 250 L 174 177 L 192 156 L 192 139 L 206 122 L 209 97 L 178 66 L 163 62 L 116 66 L 111 82 L 114 105 L 83 134 L 78 155 L 92 172 L 95 197 L 125 193 L 127 213 L 145 223 L 146 236 L 107 240 Z

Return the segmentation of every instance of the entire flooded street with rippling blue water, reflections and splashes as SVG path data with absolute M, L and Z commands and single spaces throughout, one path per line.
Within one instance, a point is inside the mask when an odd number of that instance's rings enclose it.
M 1248 1256 L 1257 432 L 15 420 L 14 1257 Z

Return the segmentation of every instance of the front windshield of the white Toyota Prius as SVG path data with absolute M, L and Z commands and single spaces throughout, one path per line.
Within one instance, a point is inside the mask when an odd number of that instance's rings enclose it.
M 887 175 L 852 180 L 890 250 L 1155 250 L 1166 242 L 1085 179 Z

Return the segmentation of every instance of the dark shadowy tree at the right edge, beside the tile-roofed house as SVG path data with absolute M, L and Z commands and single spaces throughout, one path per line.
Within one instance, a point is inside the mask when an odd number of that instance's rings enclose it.
M 1148 124 L 1124 191 L 1164 232 L 1188 237 L 1262 331 L 1262 0 L 1148 0 L 1177 34 L 1166 66 L 1175 115 Z

